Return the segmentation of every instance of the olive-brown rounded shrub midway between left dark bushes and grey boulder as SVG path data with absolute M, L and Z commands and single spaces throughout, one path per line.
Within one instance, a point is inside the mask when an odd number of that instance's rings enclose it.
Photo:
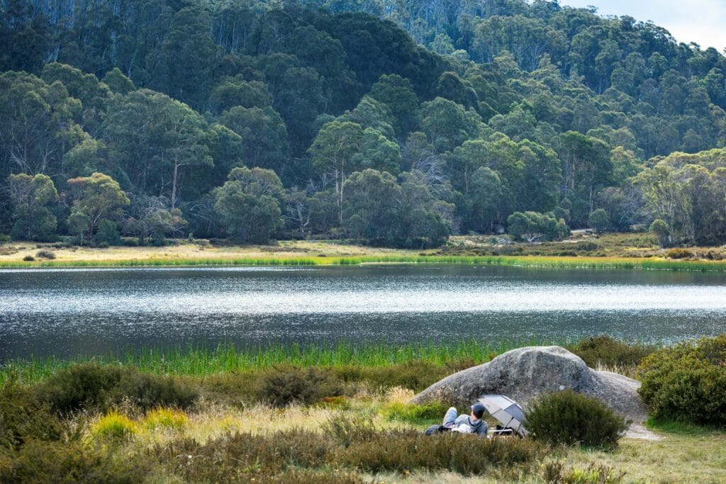
M 258 385 L 258 399 L 279 407 L 293 402 L 309 405 L 324 397 L 343 395 L 343 384 L 335 374 L 312 367 L 275 367 L 264 372 Z

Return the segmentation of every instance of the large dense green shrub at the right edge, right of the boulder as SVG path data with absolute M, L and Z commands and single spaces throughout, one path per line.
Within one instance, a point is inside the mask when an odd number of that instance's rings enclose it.
M 726 335 L 658 350 L 639 370 L 651 417 L 726 426 Z

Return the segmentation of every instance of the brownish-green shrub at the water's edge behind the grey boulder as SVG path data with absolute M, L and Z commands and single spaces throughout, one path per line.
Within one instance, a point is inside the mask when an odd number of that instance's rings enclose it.
M 568 349 L 582 358 L 587 366 L 637 366 L 643 358 L 653 353 L 653 346 L 627 345 L 613 338 L 601 335 L 581 340 Z

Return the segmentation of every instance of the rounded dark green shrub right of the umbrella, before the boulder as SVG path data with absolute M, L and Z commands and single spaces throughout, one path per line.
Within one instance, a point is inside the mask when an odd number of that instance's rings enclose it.
M 526 417 L 534 438 L 555 445 L 616 446 L 628 427 L 605 403 L 571 389 L 539 396 Z

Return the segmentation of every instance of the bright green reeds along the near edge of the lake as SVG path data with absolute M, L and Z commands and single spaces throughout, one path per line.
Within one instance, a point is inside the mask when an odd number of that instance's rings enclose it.
M 409 361 L 448 364 L 458 361 L 484 363 L 508 350 L 530 345 L 550 344 L 537 340 L 481 343 L 476 340 L 457 343 L 366 343 L 351 345 L 338 343 L 324 345 L 277 345 L 271 347 L 234 348 L 219 345 L 216 348 L 142 348 L 138 351 L 110 353 L 105 356 L 75 356 L 71 358 L 16 359 L 0 366 L 0 385 L 12 378 L 17 382 L 39 382 L 59 369 L 74 364 L 96 361 L 108 364 L 136 366 L 141 372 L 204 377 L 213 374 L 246 372 L 275 365 L 294 366 L 388 366 Z

